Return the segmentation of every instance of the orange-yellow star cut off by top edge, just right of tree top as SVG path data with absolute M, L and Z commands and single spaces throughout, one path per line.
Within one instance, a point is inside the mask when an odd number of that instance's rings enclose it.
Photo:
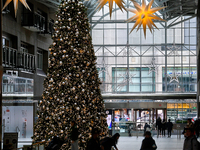
M 101 10 L 101 8 L 108 2 L 109 3 L 109 10 L 110 10 L 110 18 L 111 18 L 113 1 L 115 1 L 115 3 L 118 5 L 118 7 L 121 9 L 122 12 L 123 12 L 122 9 L 124 9 L 126 11 L 126 8 L 123 5 L 123 3 L 125 4 L 125 2 L 123 0 L 98 0 L 99 5 L 97 6 L 96 9 Z

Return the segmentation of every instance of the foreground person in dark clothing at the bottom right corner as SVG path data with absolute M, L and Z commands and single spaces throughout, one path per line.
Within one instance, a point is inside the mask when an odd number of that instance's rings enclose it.
M 194 136 L 193 128 L 185 128 L 186 138 L 183 144 L 183 150 L 199 150 L 199 143 Z

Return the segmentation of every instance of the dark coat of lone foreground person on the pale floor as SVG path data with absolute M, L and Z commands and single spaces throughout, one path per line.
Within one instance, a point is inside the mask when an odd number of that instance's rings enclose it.
M 142 146 L 140 150 L 155 150 L 157 149 L 156 142 L 152 137 L 150 138 L 145 138 L 142 141 Z

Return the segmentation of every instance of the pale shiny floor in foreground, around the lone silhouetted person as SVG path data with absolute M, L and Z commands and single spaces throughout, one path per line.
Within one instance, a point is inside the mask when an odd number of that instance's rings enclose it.
M 119 150 L 140 150 L 143 137 L 120 137 L 117 147 Z M 157 150 L 183 150 L 184 137 L 177 139 L 176 135 L 171 138 L 153 136 Z

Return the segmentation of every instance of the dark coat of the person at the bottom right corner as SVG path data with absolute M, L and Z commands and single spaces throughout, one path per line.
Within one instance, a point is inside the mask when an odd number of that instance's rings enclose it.
M 195 136 L 187 137 L 183 144 L 183 150 L 199 150 L 198 144 Z

